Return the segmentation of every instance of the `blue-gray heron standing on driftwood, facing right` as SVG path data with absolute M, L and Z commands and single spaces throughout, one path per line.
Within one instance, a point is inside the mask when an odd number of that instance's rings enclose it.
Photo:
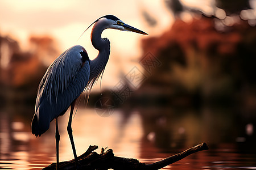
M 89 92 L 92 89 L 94 83 L 104 73 L 108 62 L 110 41 L 107 38 L 101 38 L 102 31 L 112 28 L 147 35 L 146 32 L 125 24 L 114 15 L 102 16 L 90 24 L 89 27 L 92 25 L 90 38 L 93 47 L 98 50 L 97 57 L 90 60 L 85 48 L 80 45 L 72 46 L 52 62 L 39 83 L 31 132 L 36 137 L 40 137 L 49 129 L 50 122 L 55 120 L 56 169 L 59 168 L 60 134 L 58 117 L 63 116 L 69 107 L 71 109 L 67 131 L 76 167 L 79 166 L 71 126 L 73 111 L 78 97 L 82 92 Z

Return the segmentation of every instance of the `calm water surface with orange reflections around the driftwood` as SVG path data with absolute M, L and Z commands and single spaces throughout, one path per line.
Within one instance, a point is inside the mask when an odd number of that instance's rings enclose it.
M 255 137 L 254 124 L 239 117 L 230 120 L 229 113 L 223 117 L 212 112 L 203 109 L 202 113 L 175 114 L 171 109 L 137 109 L 116 110 L 101 117 L 95 109 L 79 108 L 72 124 L 77 155 L 89 145 L 108 146 L 116 156 L 152 163 L 207 142 L 210 150 L 164 169 L 256 169 L 256 143 L 251 139 Z M 30 132 L 32 114 L 2 111 L 0 115 L 0 169 L 41 169 L 55 162 L 54 122 L 36 138 Z M 73 159 L 66 130 L 68 116 L 59 118 L 60 161 Z M 241 125 L 237 121 L 242 121 Z

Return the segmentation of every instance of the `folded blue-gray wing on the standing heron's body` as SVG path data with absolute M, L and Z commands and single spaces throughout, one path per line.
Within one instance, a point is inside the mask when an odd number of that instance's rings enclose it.
M 64 114 L 84 91 L 89 80 L 89 61 L 82 62 L 82 46 L 73 46 L 49 66 L 41 80 L 36 98 L 35 114 L 39 135 L 49 128 L 49 122 Z

